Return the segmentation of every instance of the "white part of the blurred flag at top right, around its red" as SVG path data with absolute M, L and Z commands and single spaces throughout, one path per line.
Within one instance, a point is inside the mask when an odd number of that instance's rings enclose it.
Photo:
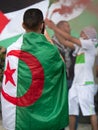
M 49 7 L 49 10 L 48 10 L 47 17 L 56 24 L 59 21 L 62 21 L 62 20 L 69 21 L 69 20 L 79 16 L 85 9 L 85 6 L 75 6 L 74 9 L 72 10 L 72 13 L 66 13 L 66 12 L 64 14 L 60 14 L 59 12 L 53 13 L 55 9 L 61 9 L 62 3 L 63 2 L 61 2 L 61 1 L 54 2 L 53 4 L 51 4 L 51 6 Z M 73 4 L 72 0 L 67 0 L 63 3 L 63 6 L 66 5 L 67 7 L 71 8 L 72 4 Z

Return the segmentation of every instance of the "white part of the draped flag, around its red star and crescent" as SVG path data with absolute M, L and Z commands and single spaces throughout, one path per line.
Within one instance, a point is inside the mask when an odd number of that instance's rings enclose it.
M 23 37 L 20 37 L 15 43 L 13 43 L 11 46 L 8 47 L 7 53 L 10 52 L 11 50 L 20 50 L 21 45 L 23 41 Z M 18 61 L 19 59 L 16 58 L 15 56 L 7 56 L 5 63 L 9 61 L 9 64 L 13 62 L 13 66 L 10 66 L 11 69 L 14 68 L 16 69 L 15 74 L 13 75 L 13 79 L 15 80 L 16 86 L 13 86 L 10 82 L 7 82 L 5 84 L 5 75 L 3 77 L 3 82 L 2 82 L 2 89 L 4 92 L 6 92 L 8 95 L 12 97 L 16 97 L 17 95 L 17 67 L 18 67 Z M 15 64 L 14 64 L 15 63 Z M 5 64 L 5 65 L 6 65 Z M 6 66 L 5 66 L 6 70 Z M 1 105 L 2 105 L 2 122 L 3 122 L 3 127 L 5 129 L 13 130 L 15 128 L 15 119 L 16 119 L 16 105 L 10 103 L 7 101 L 3 95 L 1 94 Z M 11 111 L 11 112 L 10 112 Z M 10 126 L 10 128 L 8 128 Z

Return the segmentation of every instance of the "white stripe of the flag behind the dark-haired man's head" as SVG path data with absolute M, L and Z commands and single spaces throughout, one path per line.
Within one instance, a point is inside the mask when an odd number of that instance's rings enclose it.
M 0 34 L 0 40 L 4 40 L 6 38 L 10 38 L 19 35 L 21 33 L 24 33 L 24 29 L 22 28 L 22 22 L 23 22 L 23 14 L 27 9 L 38 8 L 43 12 L 44 18 L 46 18 L 48 6 L 49 6 L 49 0 L 44 0 L 36 4 L 30 5 L 26 8 L 6 13 L 5 16 L 8 19 L 10 19 L 10 22 L 7 24 L 7 26 L 3 29 L 2 33 Z

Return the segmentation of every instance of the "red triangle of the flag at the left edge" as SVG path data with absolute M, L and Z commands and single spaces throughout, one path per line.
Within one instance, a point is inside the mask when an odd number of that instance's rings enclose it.
M 9 23 L 9 19 L 0 11 L 0 33 L 5 28 L 5 26 Z

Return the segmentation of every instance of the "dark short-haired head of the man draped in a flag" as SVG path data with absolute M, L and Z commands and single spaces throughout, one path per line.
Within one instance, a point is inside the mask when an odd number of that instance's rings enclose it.
M 23 15 L 23 28 L 26 32 L 42 33 L 44 18 L 41 10 L 37 8 L 28 9 Z

